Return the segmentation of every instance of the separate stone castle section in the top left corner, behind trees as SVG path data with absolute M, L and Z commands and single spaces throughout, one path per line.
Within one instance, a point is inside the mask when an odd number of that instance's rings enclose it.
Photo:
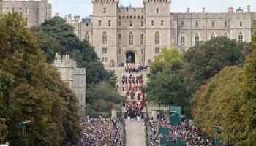
M 28 26 L 38 26 L 40 23 L 51 18 L 51 4 L 48 0 L 40 1 L 18 1 L 2 0 L 0 1 L 0 15 L 8 12 L 22 13 L 23 18 L 28 20 Z

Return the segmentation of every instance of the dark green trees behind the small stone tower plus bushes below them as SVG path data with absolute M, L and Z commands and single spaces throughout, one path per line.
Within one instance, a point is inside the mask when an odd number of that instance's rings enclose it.
M 78 67 L 86 68 L 86 97 L 94 110 L 105 112 L 109 111 L 110 107 L 117 102 L 114 101 L 111 104 L 105 101 L 105 96 L 108 98 L 116 98 L 116 74 L 113 71 L 106 71 L 97 53 L 94 51 L 89 42 L 86 40 L 80 41 L 75 35 L 74 28 L 60 17 L 54 17 L 50 20 L 45 20 L 41 26 L 34 26 L 30 28 L 31 31 L 37 36 L 37 42 L 39 47 L 45 52 L 48 58 L 48 63 L 54 60 L 55 53 L 60 55 L 69 54 L 71 58 L 77 62 Z M 103 82 L 103 83 L 102 83 Z M 105 87 L 102 87 L 104 85 Z M 108 88 L 105 94 L 99 96 L 99 94 L 91 93 L 96 89 L 95 87 Z M 111 89 L 112 88 L 112 89 Z M 113 90 L 114 89 L 114 90 Z M 100 91 L 100 90 L 99 90 Z M 95 102 L 101 100 L 104 104 L 111 105 L 108 108 L 98 108 Z M 119 100 L 117 100 L 119 101 Z

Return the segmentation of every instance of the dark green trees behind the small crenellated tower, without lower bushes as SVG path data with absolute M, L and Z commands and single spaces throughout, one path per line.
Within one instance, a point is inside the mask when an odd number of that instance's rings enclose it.
M 102 81 L 116 82 L 115 77 L 111 76 L 113 73 L 106 71 L 99 62 L 94 47 L 86 40 L 80 41 L 75 35 L 74 28 L 65 23 L 63 18 L 45 20 L 41 26 L 31 27 L 30 30 L 37 36 L 39 47 L 42 47 L 49 63 L 54 60 L 55 53 L 69 54 L 77 62 L 78 67 L 86 68 L 87 88 Z

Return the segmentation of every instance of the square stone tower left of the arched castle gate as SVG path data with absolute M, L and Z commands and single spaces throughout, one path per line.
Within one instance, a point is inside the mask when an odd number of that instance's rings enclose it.
M 93 46 L 102 63 L 117 63 L 117 11 L 119 0 L 91 0 L 93 4 Z

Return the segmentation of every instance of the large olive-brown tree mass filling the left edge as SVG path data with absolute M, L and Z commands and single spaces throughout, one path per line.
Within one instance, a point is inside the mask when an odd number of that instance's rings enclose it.
M 78 142 L 78 101 L 18 13 L 0 20 L 0 142 Z M 31 121 L 26 134 L 18 123 Z

